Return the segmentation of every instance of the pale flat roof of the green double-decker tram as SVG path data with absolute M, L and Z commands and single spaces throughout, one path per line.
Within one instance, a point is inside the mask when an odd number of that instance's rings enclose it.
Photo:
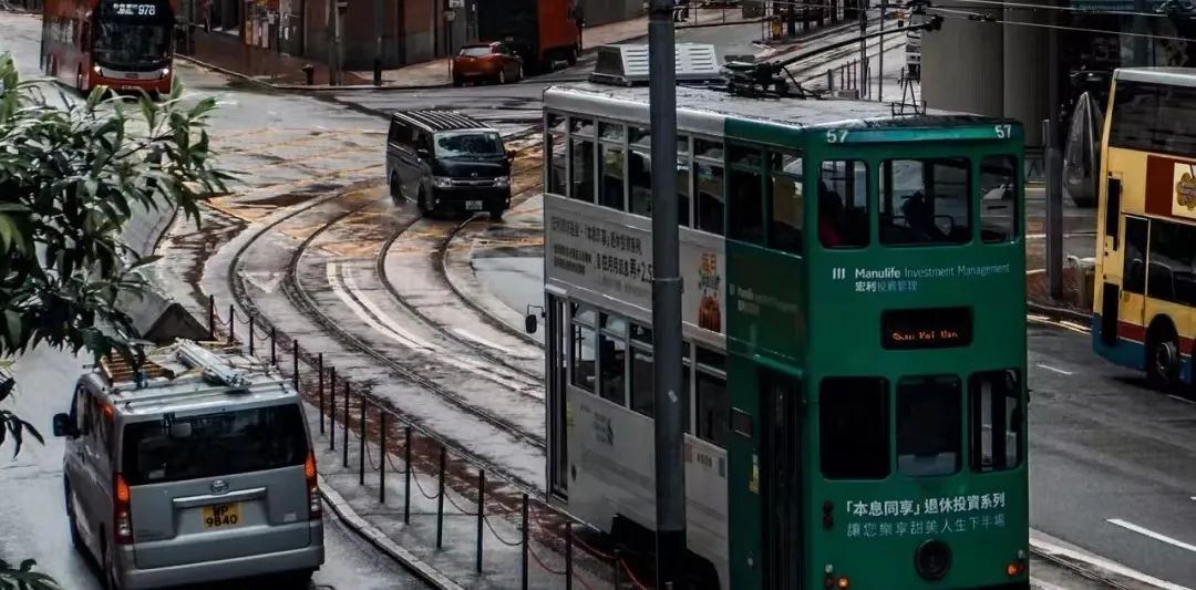
M 648 123 L 648 88 L 578 82 L 544 91 L 544 105 L 621 121 Z M 893 115 L 889 103 L 849 99 L 764 99 L 733 96 L 715 88 L 677 87 L 678 125 L 722 134 L 726 118 L 813 127 L 971 127 L 1015 119 L 927 109 L 925 113 Z

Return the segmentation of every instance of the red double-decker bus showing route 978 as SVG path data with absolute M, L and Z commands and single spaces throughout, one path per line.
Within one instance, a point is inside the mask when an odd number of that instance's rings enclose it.
M 42 69 L 83 92 L 170 92 L 178 0 L 45 0 Z

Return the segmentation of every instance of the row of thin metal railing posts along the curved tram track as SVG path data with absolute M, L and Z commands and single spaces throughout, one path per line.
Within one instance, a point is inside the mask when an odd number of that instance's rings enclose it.
M 368 387 L 354 385 L 343 371 L 337 375 L 322 352 L 303 348 L 298 339 L 280 336 L 274 327 L 263 327 L 252 316 L 243 318 L 236 306 L 228 306 L 227 319 L 220 315 L 215 299 L 209 296 L 207 325 L 213 339 L 222 337 L 230 345 L 239 344 L 249 355 L 289 376 L 292 386 L 319 410 L 313 435 L 327 444 L 328 453 L 337 451 L 340 445 L 338 467 L 332 469 L 355 473 L 358 485 L 376 494 L 377 506 L 401 502 L 402 509 L 393 517 L 402 518 L 404 526 L 433 520 L 438 552 L 451 548 L 445 539 L 446 517 L 476 521 L 470 540 L 474 574 L 502 573 L 484 567 L 489 541 L 519 549 L 517 583 L 523 589 L 530 588 L 533 578 L 549 588 L 572 589 L 575 583 L 588 590 L 651 588 L 641 582 L 646 572 L 633 567 L 621 548 L 602 549 L 594 545 L 603 543 L 586 542 L 587 536 L 602 537 L 593 535 L 597 531 L 587 523 L 553 506 L 539 492 L 496 473 L 468 449 L 415 424 L 391 404 L 371 395 Z M 244 337 L 239 339 L 238 333 Z M 322 469 L 328 465 L 327 456 L 321 465 Z M 401 498 L 392 497 L 392 478 L 401 478 Z M 435 510 L 413 510 L 413 502 L 434 502 Z M 500 533 L 512 527 L 514 534 Z M 537 552 L 537 547 L 542 549 Z

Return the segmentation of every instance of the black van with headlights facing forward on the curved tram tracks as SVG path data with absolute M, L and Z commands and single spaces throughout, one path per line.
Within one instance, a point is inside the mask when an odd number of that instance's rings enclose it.
M 511 162 L 493 127 L 454 111 L 396 112 L 386 137 L 390 196 L 415 201 L 420 213 L 487 211 L 511 207 Z

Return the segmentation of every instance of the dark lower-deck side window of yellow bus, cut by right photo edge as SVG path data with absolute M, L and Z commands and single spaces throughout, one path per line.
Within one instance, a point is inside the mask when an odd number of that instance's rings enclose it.
M 1151 221 L 1151 269 L 1146 296 L 1196 306 L 1196 228 L 1170 221 Z

